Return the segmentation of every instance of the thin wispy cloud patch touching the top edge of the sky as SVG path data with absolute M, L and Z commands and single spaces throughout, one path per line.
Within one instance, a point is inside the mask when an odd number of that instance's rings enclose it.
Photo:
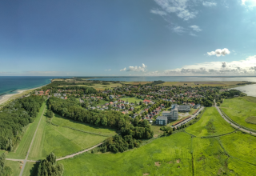
M 198 14 L 195 10 L 188 10 L 188 0 L 154 0 L 166 14 L 175 13 L 179 18 L 189 20 Z M 152 13 L 152 11 L 151 11 Z M 158 14 L 158 13 L 154 13 Z M 160 14 L 162 16 L 162 13 Z

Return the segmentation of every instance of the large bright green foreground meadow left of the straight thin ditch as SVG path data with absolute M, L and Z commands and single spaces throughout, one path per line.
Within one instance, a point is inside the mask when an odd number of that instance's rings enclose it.
M 190 135 L 178 133 L 124 153 L 84 153 L 59 163 L 64 175 L 192 175 L 190 150 Z

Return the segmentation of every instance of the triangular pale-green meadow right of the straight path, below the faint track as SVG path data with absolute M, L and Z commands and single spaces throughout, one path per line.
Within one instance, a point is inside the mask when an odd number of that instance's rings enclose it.
M 54 119 L 53 122 L 58 122 L 58 119 Z M 73 122 L 69 123 L 70 126 L 76 127 L 76 123 L 73 125 L 71 125 L 71 123 Z M 78 123 L 78 126 L 79 125 L 81 126 L 82 124 Z M 90 128 L 87 128 L 86 130 L 89 131 Z M 94 146 L 105 139 L 106 137 L 104 136 L 83 133 L 78 130 L 71 130 L 62 126 L 50 125 L 46 122 L 46 116 L 43 116 L 30 150 L 29 159 L 37 160 L 46 158 L 46 155 L 50 154 L 50 152 L 54 152 L 58 158 L 61 158 L 68 154 L 73 154 L 80 150 L 89 148 L 90 146 Z

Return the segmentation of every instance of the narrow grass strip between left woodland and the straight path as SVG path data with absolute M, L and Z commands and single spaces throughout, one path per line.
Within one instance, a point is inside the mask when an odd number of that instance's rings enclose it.
M 16 159 L 24 159 L 26 158 L 26 152 L 30 148 L 30 143 L 32 141 L 32 138 L 34 136 L 34 132 L 37 129 L 38 122 L 41 118 L 42 111 L 44 110 L 46 106 L 46 102 L 43 102 L 42 107 L 40 108 L 40 111 L 38 113 L 37 118 L 35 118 L 33 123 L 30 123 L 28 128 L 26 129 L 26 133 L 23 135 L 21 142 L 19 143 L 17 149 L 14 152 L 10 152 L 6 155 L 6 158 L 16 158 Z

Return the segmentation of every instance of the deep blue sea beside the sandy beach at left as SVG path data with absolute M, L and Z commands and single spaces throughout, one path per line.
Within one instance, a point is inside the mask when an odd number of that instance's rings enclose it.
M 59 77 L 43 76 L 0 76 L 0 94 L 15 94 L 17 91 L 28 90 L 50 83 L 50 80 Z

